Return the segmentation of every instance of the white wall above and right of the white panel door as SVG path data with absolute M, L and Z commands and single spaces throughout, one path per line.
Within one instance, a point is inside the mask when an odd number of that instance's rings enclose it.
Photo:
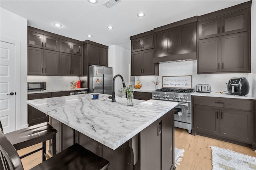
M 0 37 L 16 44 L 16 130 L 27 127 L 27 20 L 0 8 Z M 17 47 L 20 46 L 20 49 Z M 18 58 L 17 58 L 18 57 Z

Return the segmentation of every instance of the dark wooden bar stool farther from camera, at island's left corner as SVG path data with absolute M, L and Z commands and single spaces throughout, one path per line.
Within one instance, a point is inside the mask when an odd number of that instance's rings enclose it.
M 1 122 L 0 127 L 3 131 Z M 42 148 L 20 156 L 20 159 L 42 150 L 42 161 L 45 161 L 46 157 L 49 158 L 48 154 L 46 154 L 46 140 L 52 139 L 52 156 L 56 154 L 56 132 L 57 130 L 55 128 L 45 122 L 28 128 L 16 130 L 14 132 L 6 133 L 4 135 L 6 138 L 8 138 L 16 150 L 42 142 Z

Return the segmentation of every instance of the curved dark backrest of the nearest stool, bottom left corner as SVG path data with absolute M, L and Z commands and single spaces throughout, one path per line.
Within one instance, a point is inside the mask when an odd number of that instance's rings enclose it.
M 11 144 L 11 142 L 4 136 L 0 130 L 0 157 L 1 168 L 4 170 L 24 170 L 18 152 Z

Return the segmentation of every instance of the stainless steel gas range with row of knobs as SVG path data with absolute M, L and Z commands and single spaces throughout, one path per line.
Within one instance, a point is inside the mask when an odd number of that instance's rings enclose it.
M 193 92 L 194 89 L 162 88 L 152 91 L 152 99 L 178 102 L 174 108 L 174 126 L 187 129 L 191 133 L 191 93 Z

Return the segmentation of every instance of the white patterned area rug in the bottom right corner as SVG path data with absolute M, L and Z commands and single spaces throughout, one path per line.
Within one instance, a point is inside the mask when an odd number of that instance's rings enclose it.
M 212 148 L 212 170 L 256 170 L 256 157 L 229 149 Z

